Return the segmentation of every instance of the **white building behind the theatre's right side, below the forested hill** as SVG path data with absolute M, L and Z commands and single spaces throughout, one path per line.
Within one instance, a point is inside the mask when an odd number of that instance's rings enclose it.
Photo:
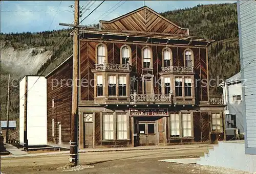
M 226 115 L 226 124 L 229 124 L 232 128 L 237 127 L 240 130 L 240 133 L 243 134 L 244 117 L 242 111 L 243 95 L 241 73 L 239 72 L 235 74 L 225 82 L 221 83 L 220 86 L 223 89 L 224 104 L 227 105 L 224 111 L 224 114 Z M 230 120 L 230 118 L 235 119 Z

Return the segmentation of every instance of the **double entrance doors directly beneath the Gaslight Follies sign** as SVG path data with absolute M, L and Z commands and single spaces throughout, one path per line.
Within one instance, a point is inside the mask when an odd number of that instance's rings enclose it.
M 156 145 L 156 124 L 155 122 L 139 123 L 140 145 Z

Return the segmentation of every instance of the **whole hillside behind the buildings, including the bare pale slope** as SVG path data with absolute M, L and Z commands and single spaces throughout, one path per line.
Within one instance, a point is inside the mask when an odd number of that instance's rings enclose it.
M 238 23 L 236 4 L 198 5 L 197 7 L 161 13 L 164 17 L 189 28 L 191 36 L 215 39 L 209 47 L 210 78 L 229 78 L 240 71 Z M 70 30 L 39 33 L 1 34 L 1 104 L 6 103 L 8 73 L 11 79 L 20 80 L 25 74 L 47 74 L 72 54 Z M 65 44 L 59 41 L 68 37 Z M 57 45 L 57 46 L 55 46 Z M 17 83 L 18 81 L 16 81 Z M 221 94 L 212 87 L 211 95 Z M 11 118 L 18 117 L 18 86 L 11 88 Z M 1 108 L 1 119 L 6 117 Z

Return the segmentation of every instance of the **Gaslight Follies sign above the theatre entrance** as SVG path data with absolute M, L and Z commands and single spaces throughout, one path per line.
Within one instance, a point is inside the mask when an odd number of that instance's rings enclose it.
M 130 116 L 169 116 L 168 109 L 130 109 Z

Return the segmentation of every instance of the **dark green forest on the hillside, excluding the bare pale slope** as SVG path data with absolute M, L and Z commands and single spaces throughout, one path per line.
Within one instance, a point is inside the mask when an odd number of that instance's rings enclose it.
M 209 76 L 213 79 L 224 79 L 240 71 L 237 6 L 234 4 L 198 5 L 193 8 L 166 11 L 162 16 L 177 23 L 179 26 L 189 28 L 191 36 L 214 39 L 215 43 L 209 47 Z M 94 25 L 96 26 L 96 24 Z M 47 74 L 63 60 L 72 54 L 73 40 L 71 30 L 44 31 L 38 33 L 10 33 L 0 34 L 4 46 L 11 46 L 15 50 L 32 47 L 42 47 L 45 51 L 52 51 L 52 56 L 42 63 L 37 73 Z M 62 42 L 65 43 L 62 44 Z M 38 54 L 38 53 L 33 53 Z M 7 74 L 1 69 L 1 104 L 6 101 Z M 2 86 L 4 86 L 2 88 Z M 18 89 L 14 90 L 11 100 L 13 113 L 18 111 Z M 220 96 L 221 88 L 210 89 L 213 96 Z M 5 115 L 5 111 L 1 110 Z

